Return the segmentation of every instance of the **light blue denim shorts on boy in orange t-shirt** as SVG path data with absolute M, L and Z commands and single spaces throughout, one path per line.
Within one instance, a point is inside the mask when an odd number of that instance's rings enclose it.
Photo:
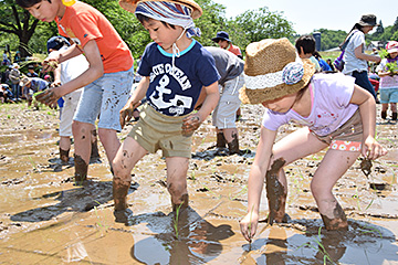
M 126 105 L 134 78 L 133 67 L 128 71 L 106 73 L 84 87 L 74 120 L 95 124 L 98 128 L 122 130 L 119 112 Z

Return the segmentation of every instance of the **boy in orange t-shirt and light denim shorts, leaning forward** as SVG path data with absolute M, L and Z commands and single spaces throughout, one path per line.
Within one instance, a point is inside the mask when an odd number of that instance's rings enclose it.
M 62 0 L 15 2 L 39 20 L 55 21 L 60 34 L 74 42 L 57 56 L 44 60 L 44 71 L 80 54 L 88 61 L 90 67 L 80 76 L 36 96 L 39 102 L 54 105 L 60 97 L 84 87 L 72 124 L 74 145 L 80 147 L 74 153 L 74 179 L 75 184 L 84 184 L 92 128 L 98 116 L 98 136 L 112 171 L 112 161 L 121 146 L 117 137 L 117 131 L 122 130 L 119 110 L 128 100 L 134 78 L 132 52 L 105 15 L 85 2 L 75 1 L 72 6 Z

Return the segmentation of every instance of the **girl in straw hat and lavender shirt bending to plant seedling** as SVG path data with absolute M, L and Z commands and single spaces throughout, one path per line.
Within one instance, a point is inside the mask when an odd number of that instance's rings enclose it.
M 255 234 L 264 183 L 270 204 L 269 223 L 284 222 L 287 194 L 283 166 L 329 147 L 311 182 L 312 193 L 327 230 L 345 230 L 346 215 L 332 193 L 333 186 L 362 153 L 368 159 L 386 155 L 375 140 L 376 103 L 367 91 L 343 74 L 316 74 L 301 60 L 287 39 L 263 40 L 247 47 L 244 104 L 266 107 L 254 162 L 249 174 L 248 214 L 240 222 L 248 241 Z M 301 128 L 274 144 L 277 128 L 290 121 Z

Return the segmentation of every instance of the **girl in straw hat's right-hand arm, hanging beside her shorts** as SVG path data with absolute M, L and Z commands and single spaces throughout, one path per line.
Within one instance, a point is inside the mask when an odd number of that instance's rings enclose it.
M 359 106 L 364 138 L 362 155 L 369 159 L 376 159 L 387 153 L 387 150 L 375 139 L 376 134 L 376 103 L 371 94 L 360 86 L 354 85 L 352 104 Z

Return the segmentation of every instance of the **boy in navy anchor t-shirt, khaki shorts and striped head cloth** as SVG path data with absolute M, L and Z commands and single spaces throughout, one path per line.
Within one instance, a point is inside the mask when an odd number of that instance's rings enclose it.
M 182 4 L 184 3 L 184 4 Z M 199 29 L 192 19 L 201 8 L 191 0 L 181 2 L 122 0 L 121 6 L 135 12 L 149 32 L 148 44 L 138 74 L 137 89 L 121 110 L 121 123 L 146 96 L 139 121 L 133 127 L 114 159 L 114 215 L 116 222 L 132 224 L 127 205 L 130 171 L 145 155 L 163 150 L 167 166 L 167 188 L 174 211 L 188 206 L 187 171 L 191 153 L 191 135 L 219 100 L 219 74 L 214 60 L 195 40 Z M 199 112 L 192 113 L 201 89 L 207 97 Z

